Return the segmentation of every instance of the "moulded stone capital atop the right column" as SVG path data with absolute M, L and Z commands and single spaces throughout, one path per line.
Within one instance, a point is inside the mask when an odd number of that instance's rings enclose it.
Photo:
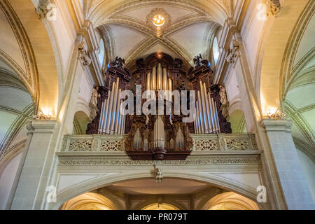
M 265 127 L 266 132 L 291 132 L 292 120 L 287 119 L 262 119 L 262 127 Z

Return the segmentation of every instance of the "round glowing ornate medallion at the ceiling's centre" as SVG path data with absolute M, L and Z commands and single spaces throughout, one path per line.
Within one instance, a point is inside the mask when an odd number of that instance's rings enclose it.
M 153 8 L 146 16 L 146 25 L 161 36 L 163 31 L 171 24 L 171 16 L 163 8 Z

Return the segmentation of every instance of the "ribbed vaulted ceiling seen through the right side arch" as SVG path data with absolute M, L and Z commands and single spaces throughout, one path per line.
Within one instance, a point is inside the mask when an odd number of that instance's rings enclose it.
M 315 160 L 315 3 L 301 16 L 288 45 L 283 69 L 283 106 L 293 120 L 295 145 Z

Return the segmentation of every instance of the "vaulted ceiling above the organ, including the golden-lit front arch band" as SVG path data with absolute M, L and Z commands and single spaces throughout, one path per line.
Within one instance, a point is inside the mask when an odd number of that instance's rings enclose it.
M 99 28 L 106 40 L 107 53 L 126 61 L 153 52 L 165 52 L 183 59 L 184 66 L 193 66 L 193 57 L 200 53 L 209 59 L 211 43 L 230 10 L 230 1 L 86 1 L 87 18 Z M 226 6 L 225 6 L 226 4 Z M 169 15 L 162 31 L 147 20 L 148 15 L 162 8 Z M 167 24 L 168 23 L 168 24 Z

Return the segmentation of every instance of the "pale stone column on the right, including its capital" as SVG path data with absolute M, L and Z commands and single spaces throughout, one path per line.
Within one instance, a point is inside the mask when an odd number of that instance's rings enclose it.
M 295 144 L 290 133 L 290 120 L 262 120 L 272 158 L 288 209 L 315 209 L 304 177 Z

